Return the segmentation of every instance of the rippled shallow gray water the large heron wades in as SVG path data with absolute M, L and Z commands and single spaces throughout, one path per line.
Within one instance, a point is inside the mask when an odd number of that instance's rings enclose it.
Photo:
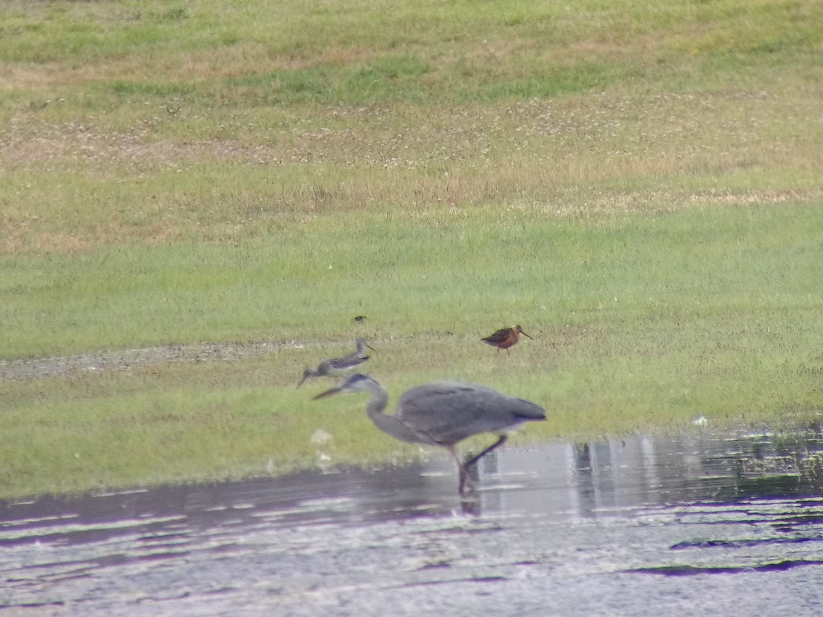
M 0 505 L 26 615 L 821 615 L 821 433 L 502 448 Z

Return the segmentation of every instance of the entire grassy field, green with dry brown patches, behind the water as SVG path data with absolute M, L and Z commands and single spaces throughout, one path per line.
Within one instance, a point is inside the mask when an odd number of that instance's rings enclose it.
M 0 2 L 0 362 L 268 344 L 0 381 L 0 498 L 421 456 L 295 391 L 355 336 L 521 440 L 819 424 L 821 54 L 815 0 Z

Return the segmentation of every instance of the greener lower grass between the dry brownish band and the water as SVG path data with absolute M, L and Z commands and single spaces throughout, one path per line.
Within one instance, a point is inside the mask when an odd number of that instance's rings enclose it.
M 7 294 L 3 315 L 21 349 L 324 342 L 265 359 L 2 383 L 2 485 L 13 494 L 234 477 L 314 465 L 320 450 L 335 462 L 412 456 L 370 427 L 364 401 L 314 402 L 320 386 L 294 389 L 304 366 L 360 333 L 378 348 L 370 372 L 395 396 L 455 378 L 546 406 L 532 439 L 681 429 L 697 415 L 715 429 L 819 420 L 820 204 L 595 224 L 499 217 L 375 218 L 353 233 L 329 216 L 277 245 L 101 249 L 63 258 L 65 270 L 26 257 L 40 263 L 12 269 L 28 284 Z M 365 327 L 351 324 L 360 313 Z M 513 316 L 535 341 L 509 355 L 481 345 Z M 317 429 L 331 446 L 312 444 Z

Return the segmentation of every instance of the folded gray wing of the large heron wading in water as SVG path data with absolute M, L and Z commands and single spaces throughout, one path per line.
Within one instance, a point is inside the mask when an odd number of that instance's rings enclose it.
M 543 420 L 542 407 L 471 383 L 429 383 L 398 401 L 398 420 L 437 443 L 496 433 L 526 420 Z

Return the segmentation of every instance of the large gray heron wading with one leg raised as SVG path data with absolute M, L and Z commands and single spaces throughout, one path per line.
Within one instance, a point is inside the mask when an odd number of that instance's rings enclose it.
M 546 411 L 522 398 L 507 397 L 489 387 L 472 383 L 440 382 L 412 387 L 398 401 L 394 415 L 386 415 L 388 393 L 368 375 L 352 375 L 345 383 L 316 397 L 331 397 L 348 392 L 371 392 L 366 413 L 377 428 L 409 443 L 442 446 L 458 464 L 459 491 L 467 495 L 472 479 L 467 467 L 502 445 L 507 433 L 529 420 L 546 420 Z M 461 462 L 456 443 L 481 433 L 495 433 L 497 441 L 480 454 Z

